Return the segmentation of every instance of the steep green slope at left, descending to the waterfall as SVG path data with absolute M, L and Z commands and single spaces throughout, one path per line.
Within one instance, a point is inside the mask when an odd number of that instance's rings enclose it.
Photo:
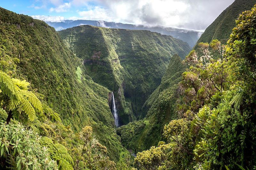
M 1 55 L 20 59 L 16 75 L 44 95 L 65 125 L 75 131 L 90 125 L 113 160 L 122 145 L 108 106 L 109 90 L 87 76 L 82 60 L 62 42 L 53 27 L 0 8 Z

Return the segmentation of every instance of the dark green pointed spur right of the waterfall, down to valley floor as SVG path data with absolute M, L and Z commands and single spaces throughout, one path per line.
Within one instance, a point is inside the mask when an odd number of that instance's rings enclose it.
M 146 118 L 117 129 L 126 148 L 132 149 L 134 152 L 142 151 L 163 140 L 164 125 L 178 117 L 175 109 L 177 100 L 175 90 L 185 69 L 186 65 L 182 63 L 181 58 L 178 55 L 173 55 L 161 84 L 142 107 L 143 113 L 147 114 Z

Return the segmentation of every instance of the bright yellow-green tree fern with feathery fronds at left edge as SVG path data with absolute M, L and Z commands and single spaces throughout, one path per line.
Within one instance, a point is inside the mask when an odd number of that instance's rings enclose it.
M 34 121 L 36 111 L 43 114 L 43 107 L 36 95 L 28 91 L 29 83 L 26 80 L 11 78 L 0 71 L 0 100 L 2 107 L 8 112 L 7 124 L 12 116 L 28 116 L 28 120 Z

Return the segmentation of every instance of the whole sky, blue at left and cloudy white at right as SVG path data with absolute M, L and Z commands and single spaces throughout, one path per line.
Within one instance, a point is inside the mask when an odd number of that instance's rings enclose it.
M 104 20 L 204 31 L 234 0 L 0 0 L 0 6 L 44 21 Z

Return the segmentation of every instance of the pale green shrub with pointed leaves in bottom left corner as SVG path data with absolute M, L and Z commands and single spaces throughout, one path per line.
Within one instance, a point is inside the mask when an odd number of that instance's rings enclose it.
M 56 162 L 41 144 L 41 137 L 20 123 L 8 125 L 0 122 L 0 148 L 2 168 L 58 169 Z

